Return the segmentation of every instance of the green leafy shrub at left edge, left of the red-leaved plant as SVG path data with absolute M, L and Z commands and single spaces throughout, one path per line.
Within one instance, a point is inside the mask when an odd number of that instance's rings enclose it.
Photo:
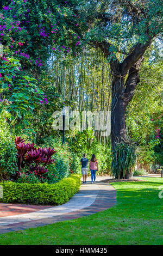
M 3 109 L 0 113 L 0 179 L 9 179 L 17 171 L 16 147 L 9 132 L 8 118 L 10 114 Z

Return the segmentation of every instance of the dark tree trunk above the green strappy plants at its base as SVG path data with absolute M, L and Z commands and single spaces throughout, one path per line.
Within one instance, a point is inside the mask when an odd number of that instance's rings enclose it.
M 143 61 L 141 57 L 128 72 L 126 83 L 124 83 L 125 75 L 117 75 L 117 71 L 121 69 L 118 65 L 118 70 L 114 70 L 112 79 L 112 101 L 111 101 L 111 145 L 112 149 L 115 143 L 126 141 L 126 108 L 133 98 L 137 83 L 140 82 L 139 71 Z

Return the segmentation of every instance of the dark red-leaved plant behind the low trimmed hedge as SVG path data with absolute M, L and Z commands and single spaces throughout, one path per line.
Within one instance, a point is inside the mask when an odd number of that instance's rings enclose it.
M 16 179 L 20 177 L 22 169 L 28 167 L 29 173 L 34 173 L 38 178 L 43 179 L 43 174 L 48 172 L 45 168 L 48 164 L 55 163 L 52 156 L 57 152 L 54 148 L 35 148 L 34 143 L 24 143 L 26 139 L 15 137 L 15 144 L 17 149 L 17 165 L 18 172 Z M 42 164 L 42 166 L 40 166 Z

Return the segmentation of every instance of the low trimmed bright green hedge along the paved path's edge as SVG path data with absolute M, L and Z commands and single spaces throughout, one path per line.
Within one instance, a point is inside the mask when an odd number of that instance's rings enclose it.
M 0 182 L 3 186 L 1 203 L 61 205 L 79 191 L 80 176 L 72 174 L 56 184 L 28 184 L 17 182 Z

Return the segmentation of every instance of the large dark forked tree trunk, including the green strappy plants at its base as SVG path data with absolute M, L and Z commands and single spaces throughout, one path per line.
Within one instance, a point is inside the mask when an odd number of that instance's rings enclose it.
M 152 37 L 148 36 L 146 44 L 138 42 L 134 47 L 131 47 L 122 63 L 115 55 L 114 58 L 109 60 L 113 77 L 111 101 L 112 170 L 115 176 L 121 178 L 124 178 L 124 171 L 126 171 L 126 174 L 130 173 L 133 163 L 130 163 L 129 160 L 134 159 L 134 147 L 129 145 L 129 138 L 126 134 L 126 109 L 135 94 L 137 83 L 140 82 L 139 70 L 143 61 L 143 54 L 151 42 Z M 106 58 L 112 55 L 112 52 L 110 52 L 111 45 L 108 41 L 96 42 L 96 45 L 101 48 Z M 116 144 L 121 142 L 124 142 L 124 147 L 122 144 Z M 128 157 L 128 159 L 125 157 Z M 125 170 L 125 168 L 127 169 Z

